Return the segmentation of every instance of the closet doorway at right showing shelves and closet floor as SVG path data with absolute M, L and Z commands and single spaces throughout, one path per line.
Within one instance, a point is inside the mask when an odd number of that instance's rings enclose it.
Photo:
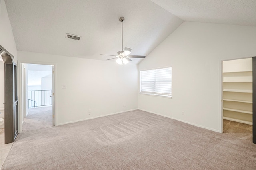
M 223 133 L 252 141 L 252 58 L 222 61 Z

